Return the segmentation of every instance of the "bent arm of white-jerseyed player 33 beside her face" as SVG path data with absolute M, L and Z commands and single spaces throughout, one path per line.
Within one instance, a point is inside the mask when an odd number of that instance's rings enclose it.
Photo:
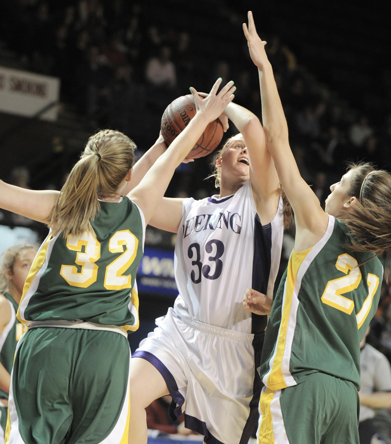
M 266 148 L 265 132 L 255 114 L 236 103 L 230 103 L 225 114 L 242 134 L 246 143 L 250 180 L 257 213 L 265 225 L 274 218 L 279 198 L 279 178 L 273 158 Z

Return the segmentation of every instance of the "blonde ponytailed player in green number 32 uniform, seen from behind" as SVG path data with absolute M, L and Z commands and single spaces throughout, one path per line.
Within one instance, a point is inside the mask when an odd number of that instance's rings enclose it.
M 28 331 L 12 370 L 5 443 L 125 443 L 130 350 L 138 328 L 136 271 L 145 225 L 209 122 L 233 99 L 233 82 L 197 114 L 129 192 L 135 144 L 102 130 L 90 137 L 60 193 L 0 181 L 0 208 L 50 231 L 23 289 L 17 318 Z

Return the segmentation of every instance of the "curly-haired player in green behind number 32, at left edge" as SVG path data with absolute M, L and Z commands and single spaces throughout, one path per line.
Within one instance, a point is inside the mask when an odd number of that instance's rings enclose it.
M 4 444 L 11 370 L 16 345 L 25 331 L 16 319 L 23 285 L 37 248 L 14 245 L 2 253 L 0 264 L 0 444 Z

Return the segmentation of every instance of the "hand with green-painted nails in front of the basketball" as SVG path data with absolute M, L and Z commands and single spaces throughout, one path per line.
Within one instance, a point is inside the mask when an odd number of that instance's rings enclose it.
M 217 90 L 221 84 L 221 77 L 216 80 L 210 93 L 202 99 L 195 88 L 190 88 L 193 95 L 194 103 L 197 113 L 202 113 L 207 117 L 209 122 L 216 120 L 225 110 L 226 106 L 233 100 L 236 87 L 233 86 L 233 81 L 225 85 L 219 93 Z

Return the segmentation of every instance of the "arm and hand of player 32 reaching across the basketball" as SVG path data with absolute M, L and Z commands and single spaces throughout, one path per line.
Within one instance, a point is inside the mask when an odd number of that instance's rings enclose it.
M 128 194 L 141 208 L 147 223 L 158 208 L 175 168 L 194 147 L 207 124 L 217 119 L 232 101 L 233 82 L 227 83 L 216 94 L 220 83 L 221 78 L 215 82 L 205 99 L 201 99 L 197 91 L 191 88 L 197 108 L 196 115 L 146 173 L 139 185 Z

